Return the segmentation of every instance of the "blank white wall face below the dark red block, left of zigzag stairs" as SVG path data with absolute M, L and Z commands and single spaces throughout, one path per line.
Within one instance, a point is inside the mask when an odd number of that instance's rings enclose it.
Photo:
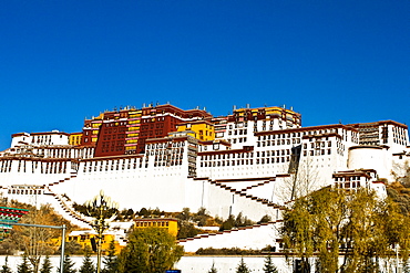
M 186 195 L 184 172 L 181 167 L 166 170 L 139 168 L 127 171 L 79 172 L 75 179 L 55 188 L 79 203 L 92 199 L 102 189 L 120 203 L 121 209 L 160 208 L 165 211 L 181 211 L 185 207 Z

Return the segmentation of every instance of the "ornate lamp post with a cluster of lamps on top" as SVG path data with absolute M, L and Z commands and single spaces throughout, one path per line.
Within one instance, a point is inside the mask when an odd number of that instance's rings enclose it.
M 94 218 L 91 227 L 96 231 L 96 273 L 101 272 L 101 246 L 103 232 L 110 228 L 110 222 L 115 219 L 119 203 L 111 201 L 103 190 L 94 199 L 85 202 L 89 216 Z

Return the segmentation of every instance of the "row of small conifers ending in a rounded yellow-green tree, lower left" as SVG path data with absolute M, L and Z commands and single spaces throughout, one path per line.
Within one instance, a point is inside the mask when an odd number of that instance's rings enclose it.
M 183 246 L 178 245 L 175 238 L 166 230 L 160 228 L 134 229 L 129 235 L 127 245 L 116 255 L 114 241 L 111 241 L 107 255 L 103 259 L 102 273 L 164 273 L 172 270 L 174 264 L 184 254 Z M 74 263 L 65 255 L 63 273 L 95 273 L 95 264 L 91 260 L 91 251 L 86 250 L 82 265 L 74 269 Z M 0 273 L 11 273 L 7 264 L 2 265 Z M 42 266 L 34 269 L 24 253 L 17 273 L 51 273 L 53 271 L 50 259 L 43 259 Z

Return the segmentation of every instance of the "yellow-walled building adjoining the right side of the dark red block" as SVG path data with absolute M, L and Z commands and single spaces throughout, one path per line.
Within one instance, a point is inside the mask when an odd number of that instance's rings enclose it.
M 196 120 L 178 124 L 177 132 L 192 132 L 189 136 L 195 137 L 201 141 L 212 141 L 215 139 L 215 127 L 207 120 Z

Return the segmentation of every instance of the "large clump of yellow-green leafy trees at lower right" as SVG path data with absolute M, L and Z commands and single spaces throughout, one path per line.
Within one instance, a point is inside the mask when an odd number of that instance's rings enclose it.
M 380 199 L 365 188 L 324 188 L 297 199 L 284 213 L 285 255 L 298 258 L 301 272 L 310 272 L 314 260 L 317 272 L 329 273 L 376 273 L 381 261 L 397 256 L 407 264 L 410 218 L 403 211 L 391 198 Z

